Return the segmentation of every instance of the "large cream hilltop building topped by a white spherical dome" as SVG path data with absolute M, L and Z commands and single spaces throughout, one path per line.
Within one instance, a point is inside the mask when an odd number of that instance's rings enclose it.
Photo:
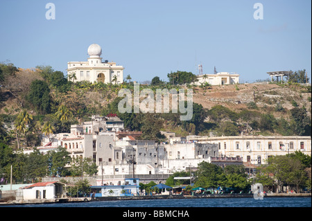
M 100 57 L 102 48 L 98 44 L 92 44 L 88 48 L 89 58 L 87 62 L 68 62 L 67 78 L 73 82 L 89 81 L 121 84 L 123 82 L 123 67 L 116 62 L 102 62 Z

